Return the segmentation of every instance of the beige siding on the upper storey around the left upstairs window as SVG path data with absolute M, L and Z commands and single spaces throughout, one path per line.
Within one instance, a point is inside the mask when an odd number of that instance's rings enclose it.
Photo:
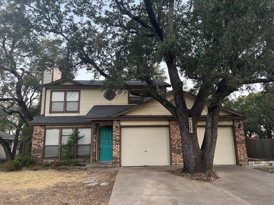
M 109 101 L 104 98 L 104 92 L 101 89 L 82 89 L 80 94 L 80 113 L 49 113 L 50 91 L 47 90 L 45 116 L 86 115 L 95 105 L 127 105 L 127 93 L 122 92 L 122 94 Z

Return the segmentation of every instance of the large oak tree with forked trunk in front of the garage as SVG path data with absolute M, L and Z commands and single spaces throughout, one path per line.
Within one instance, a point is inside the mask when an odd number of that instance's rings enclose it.
M 220 107 L 243 85 L 273 81 L 271 1 L 193 0 L 17 0 L 40 32 L 61 36 L 74 60 L 106 78 L 106 87 L 126 89 L 125 80 L 148 84 L 149 95 L 176 118 L 184 170 L 212 170 Z M 165 63 L 175 106 L 155 81 Z M 192 79 L 197 97 L 186 105 L 184 83 Z M 201 148 L 197 122 L 207 105 Z M 188 118 L 193 119 L 189 133 Z

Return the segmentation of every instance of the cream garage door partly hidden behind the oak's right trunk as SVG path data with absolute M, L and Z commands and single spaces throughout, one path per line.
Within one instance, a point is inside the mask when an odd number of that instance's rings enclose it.
M 204 139 L 205 128 L 198 127 L 198 141 L 201 146 Z M 218 127 L 218 137 L 214 154 L 214 165 L 235 165 L 235 150 L 232 127 Z

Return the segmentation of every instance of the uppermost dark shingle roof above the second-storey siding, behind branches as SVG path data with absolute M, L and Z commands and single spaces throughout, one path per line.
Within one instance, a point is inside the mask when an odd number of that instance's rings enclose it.
M 81 87 L 102 87 L 103 86 L 103 81 L 104 80 L 71 80 L 68 78 L 61 78 L 55 81 L 52 81 L 51 83 L 42 85 L 41 87 L 56 87 L 56 86 L 66 86 L 66 87 L 72 87 L 72 86 L 81 86 Z M 69 82 L 72 83 L 73 85 L 59 85 L 60 83 L 65 83 Z M 142 82 L 140 80 L 128 80 L 126 81 L 126 84 L 131 87 L 143 87 L 147 86 L 148 84 L 145 82 Z M 156 84 L 158 86 L 163 86 L 163 87 L 171 87 L 170 84 L 166 83 L 165 81 L 162 80 L 157 80 Z

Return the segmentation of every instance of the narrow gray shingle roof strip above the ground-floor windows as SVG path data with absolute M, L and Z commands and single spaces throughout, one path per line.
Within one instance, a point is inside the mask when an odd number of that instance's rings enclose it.
M 84 116 L 43 116 L 40 115 L 29 122 L 33 124 L 85 124 L 90 123 L 90 120 L 84 118 Z

